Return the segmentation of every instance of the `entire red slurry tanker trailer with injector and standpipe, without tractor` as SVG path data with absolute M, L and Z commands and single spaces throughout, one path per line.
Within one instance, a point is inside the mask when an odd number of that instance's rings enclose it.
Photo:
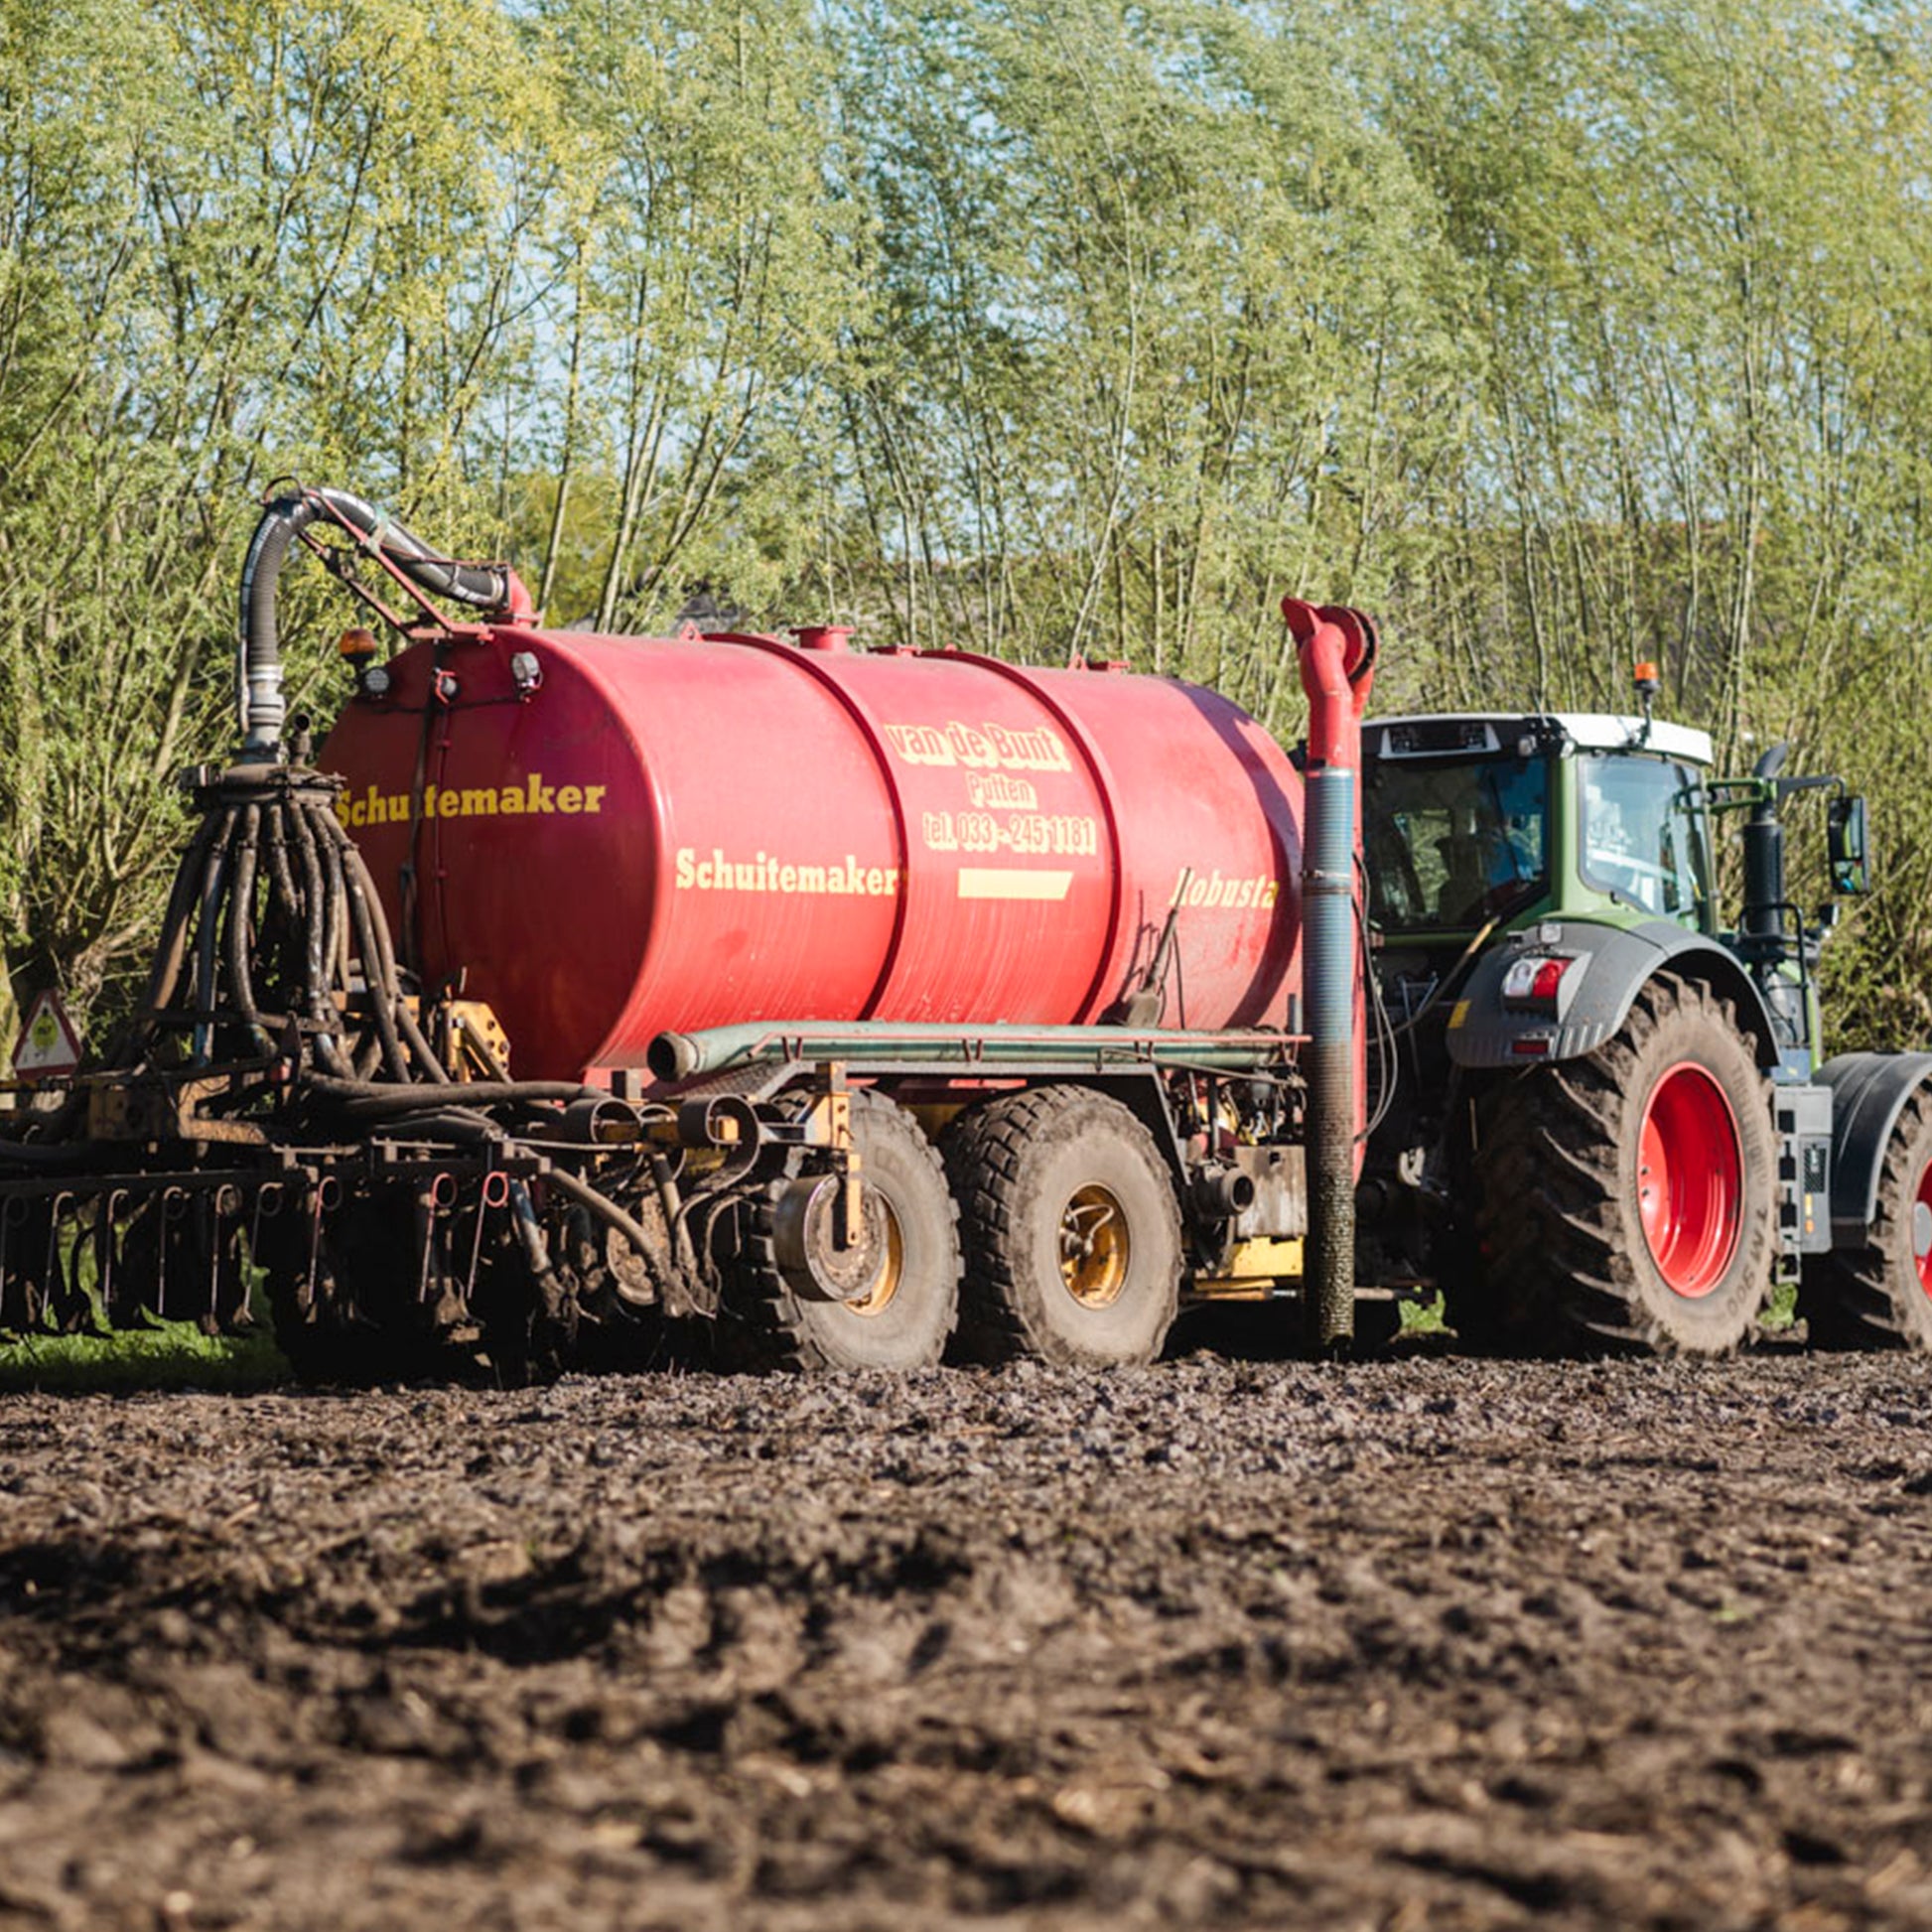
M 394 639 L 344 632 L 319 752 L 298 547 Z M 267 1300 L 299 1374 L 352 1379 L 707 1331 L 1146 1360 L 1215 1298 L 1387 1329 L 1352 1269 L 1376 634 L 1287 616 L 1300 767 L 1111 663 L 545 630 L 506 566 L 286 489 L 141 1007 L 14 1094 L 0 1327 Z

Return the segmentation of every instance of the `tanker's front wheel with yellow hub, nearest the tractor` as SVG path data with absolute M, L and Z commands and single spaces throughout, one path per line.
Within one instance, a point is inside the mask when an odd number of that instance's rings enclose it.
M 1151 1362 L 1180 1300 L 1180 1213 L 1153 1136 L 1105 1094 L 1055 1086 L 947 1136 L 966 1248 L 966 1345 L 987 1360 Z

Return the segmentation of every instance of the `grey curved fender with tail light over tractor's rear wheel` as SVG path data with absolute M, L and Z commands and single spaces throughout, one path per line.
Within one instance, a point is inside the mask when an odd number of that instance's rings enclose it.
M 1557 970 L 1561 960 L 1569 964 Z M 1551 970 L 1538 987 L 1546 964 Z M 1478 960 L 1449 1010 L 1449 1059 L 1457 1066 L 1580 1059 L 1623 1026 L 1644 981 L 1665 970 L 1731 1001 L 1758 1065 L 1777 1065 L 1772 1016 L 1750 974 L 1723 947 L 1667 920 L 1642 925 L 1542 920 L 1511 933 Z

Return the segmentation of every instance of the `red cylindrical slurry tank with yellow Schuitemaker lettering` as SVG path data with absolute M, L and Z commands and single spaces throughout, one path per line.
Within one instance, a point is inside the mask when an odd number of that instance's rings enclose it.
M 796 638 L 485 626 L 440 697 L 417 643 L 330 732 L 390 920 L 520 1074 L 746 1020 L 1097 1020 L 1177 895 L 1163 1024 L 1287 1024 L 1302 784 L 1238 705 Z

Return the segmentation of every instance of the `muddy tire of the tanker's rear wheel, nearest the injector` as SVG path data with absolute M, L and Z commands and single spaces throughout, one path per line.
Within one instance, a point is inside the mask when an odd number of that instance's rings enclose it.
M 891 1293 L 862 1302 L 800 1294 L 779 1269 L 775 1180 L 750 1209 L 742 1252 L 724 1291 L 746 1366 L 765 1370 L 910 1370 L 945 1354 L 958 1321 L 958 1209 L 939 1151 L 920 1122 L 883 1094 L 852 1095 L 860 1186 L 885 1204 L 896 1264 Z

